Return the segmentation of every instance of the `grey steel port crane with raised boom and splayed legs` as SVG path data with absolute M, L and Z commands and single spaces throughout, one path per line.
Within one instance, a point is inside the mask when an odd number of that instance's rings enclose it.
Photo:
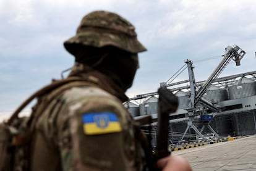
M 208 127 L 213 133 L 215 133 L 215 136 L 218 137 L 218 134 L 209 125 L 210 121 L 213 120 L 213 115 L 208 115 L 206 111 L 207 109 L 210 109 L 213 112 L 220 112 L 220 109 L 214 106 L 210 101 L 203 99 L 202 96 L 207 92 L 208 88 L 210 88 L 211 86 L 211 83 L 213 83 L 213 80 L 215 80 L 220 75 L 220 73 L 224 70 L 226 65 L 228 65 L 231 59 L 236 62 L 236 65 L 240 65 L 240 60 L 245 55 L 245 51 L 243 51 L 237 45 L 234 45 L 233 47 L 228 46 L 225 50 L 226 52 L 223 55 L 223 59 L 221 60 L 220 64 L 216 67 L 213 73 L 211 73 L 210 77 L 208 77 L 208 79 L 203 82 L 203 84 L 199 87 L 198 91 L 196 91 L 195 77 L 193 72 L 194 67 L 192 65 L 193 63 L 191 60 L 185 61 L 185 63 L 187 64 L 188 72 L 189 72 L 189 85 L 190 85 L 189 106 L 186 109 L 187 115 L 189 117 L 189 121 L 187 122 L 187 128 L 181 140 L 183 140 L 189 128 L 192 128 L 193 130 L 195 130 L 197 135 L 203 138 L 202 131 L 204 130 L 205 127 Z M 167 87 L 169 85 L 163 83 L 162 86 Z M 195 127 L 194 125 L 197 111 L 203 111 L 203 115 L 200 116 L 201 120 L 203 121 L 203 127 L 201 131 L 199 131 L 197 127 Z

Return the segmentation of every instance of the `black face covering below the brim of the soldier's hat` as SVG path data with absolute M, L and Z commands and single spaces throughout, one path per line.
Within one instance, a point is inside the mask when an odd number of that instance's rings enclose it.
M 76 62 L 81 62 L 105 74 L 124 91 L 132 86 L 135 73 L 139 68 L 137 54 L 131 54 L 113 46 L 83 47 L 83 51 L 76 56 Z

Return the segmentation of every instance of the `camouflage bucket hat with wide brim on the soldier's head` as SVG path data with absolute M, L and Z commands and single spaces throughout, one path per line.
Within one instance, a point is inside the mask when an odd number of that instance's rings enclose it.
M 75 44 L 101 48 L 114 46 L 116 48 L 137 53 L 147 49 L 137 40 L 135 27 L 113 12 L 103 10 L 91 12 L 83 17 L 77 28 L 77 34 L 64 42 L 71 54 Z

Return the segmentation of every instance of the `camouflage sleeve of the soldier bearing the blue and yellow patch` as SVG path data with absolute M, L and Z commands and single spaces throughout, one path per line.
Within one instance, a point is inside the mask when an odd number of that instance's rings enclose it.
M 121 102 L 98 88 L 72 88 L 59 115 L 63 170 L 140 170 L 131 119 Z

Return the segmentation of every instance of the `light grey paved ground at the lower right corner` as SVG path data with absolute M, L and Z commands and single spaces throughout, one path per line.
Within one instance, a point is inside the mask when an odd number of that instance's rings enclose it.
M 256 170 L 256 136 L 173 151 L 189 161 L 194 171 Z

